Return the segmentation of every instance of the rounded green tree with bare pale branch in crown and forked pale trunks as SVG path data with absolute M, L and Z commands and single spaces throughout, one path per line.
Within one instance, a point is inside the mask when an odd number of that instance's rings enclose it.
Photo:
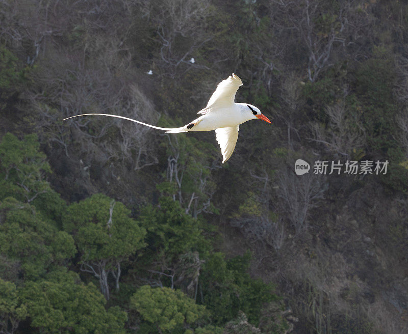
M 81 253 L 81 269 L 92 273 L 109 299 L 108 274 L 119 289 L 120 263 L 145 246 L 146 231 L 129 217 L 130 210 L 102 194 L 68 207 L 63 218 Z

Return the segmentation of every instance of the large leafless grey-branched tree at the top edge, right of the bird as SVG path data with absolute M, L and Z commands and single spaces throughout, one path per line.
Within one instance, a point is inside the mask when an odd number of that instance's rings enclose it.
M 322 0 L 272 0 L 269 6 L 278 38 L 297 36 L 307 52 L 311 82 L 334 64 L 334 54 L 347 51 L 357 57 L 360 39 L 369 32 L 372 22 L 359 0 L 343 1 L 336 9 L 325 5 Z

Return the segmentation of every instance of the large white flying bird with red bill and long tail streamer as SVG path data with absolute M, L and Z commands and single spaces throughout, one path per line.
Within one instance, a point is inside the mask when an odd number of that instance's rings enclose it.
M 154 129 L 165 130 L 167 133 L 215 130 L 217 142 L 221 147 L 222 163 L 224 163 L 234 152 L 238 139 L 239 124 L 256 119 L 271 123 L 265 115 L 261 114 L 261 111 L 256 106 L 234 102 L 235 94 L 240 86 L 242 86 L 242 81 L 234 73 L 221 81 L 208 101 L 207 106 L 198 112 L 201 116 L 180 128 L 162 128 L 123 116 L 94 113 L 71 116 L 64 119 L 64 121 L 79 116 L 101 115 L 122 118 Z

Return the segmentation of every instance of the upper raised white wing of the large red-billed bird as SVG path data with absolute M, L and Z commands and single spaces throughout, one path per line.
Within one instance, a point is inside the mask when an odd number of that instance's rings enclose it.
M 207 106 L 200 110 L 198 114 L 207 114 L 210 107 L 225 107 L 234 103 L 235 94 L 238 88 L 242 86 L 242 81 L 238 75 L 233 73 L 227 79 L 222 80 L 213 95 L 211 95 Z

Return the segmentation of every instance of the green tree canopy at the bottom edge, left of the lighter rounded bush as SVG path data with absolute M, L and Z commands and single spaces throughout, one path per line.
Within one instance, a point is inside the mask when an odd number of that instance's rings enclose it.
M 28 282 L 20 291 L 31 326 L 41 333 L 124 333 L 126 313 L 119 307 L 105 310 L 106 299 L 96 287 L 65 270 L 46 280 Z

